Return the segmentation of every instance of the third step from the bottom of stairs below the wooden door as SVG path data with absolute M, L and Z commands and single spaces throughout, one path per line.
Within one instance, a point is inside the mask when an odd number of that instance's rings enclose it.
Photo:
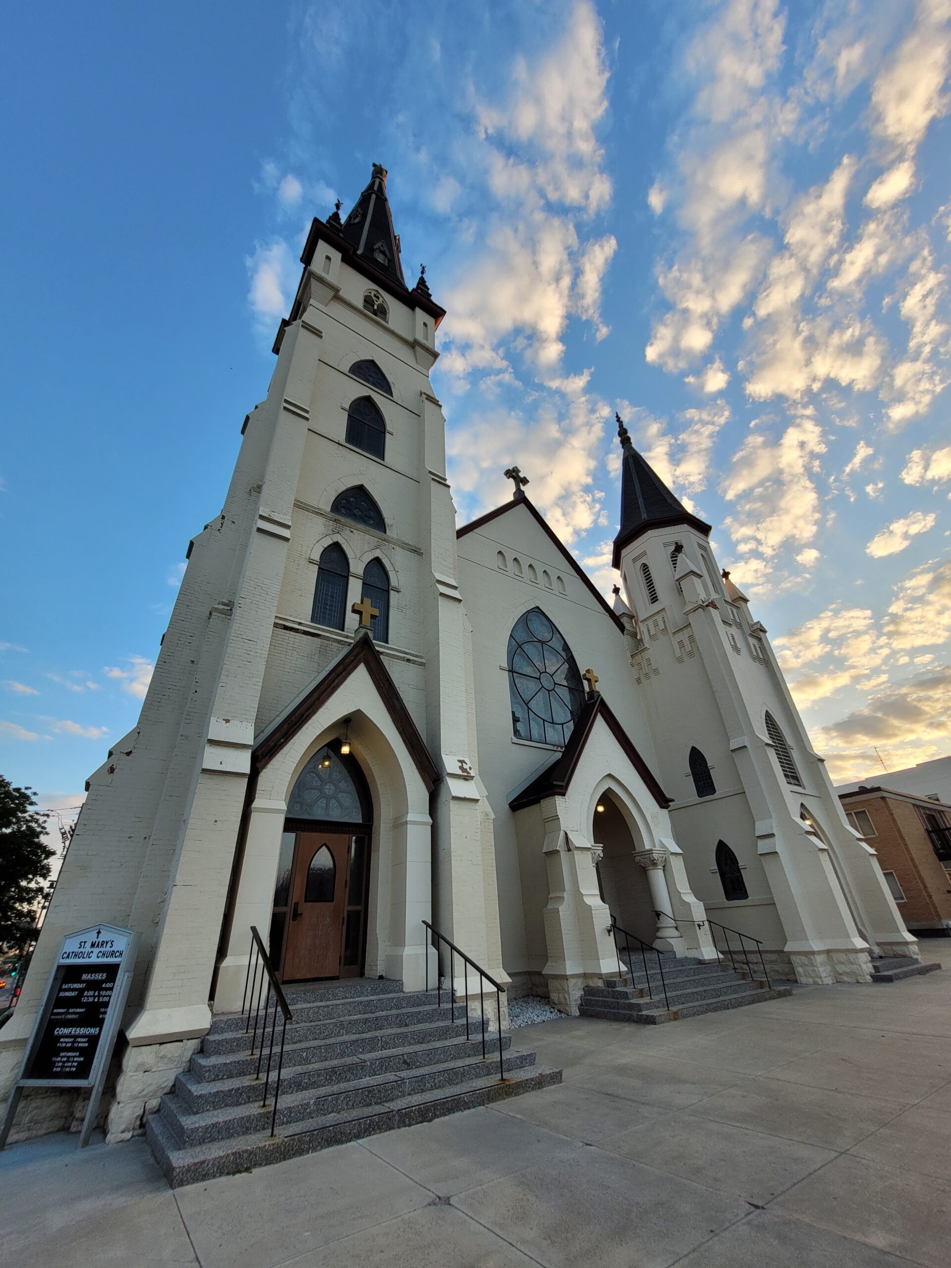
M 280 1089 L 284 1092 L 304 1092 L 311 1088 L 327 1088 L 340 1083 L 350 1083 L 359 1078 L 375 1078 L 394 1074 L 401 1070 L 418 1069 L 432 1063 L 459 1061 L 469 1056 L 482 1056 L 482 1037 L 473 1032 L 467 1041 L 465 1032 L 448 1040 L 426 1046 L 406 1046 L 384 1049 L 364 1056 L 341 1056 L 331 1060 L 314 1060 L 306 1065 L 288 1066 L 281 1071 Z M 511 1046 L 511 1036 L 502 1035 L 502 1050 Z M 497 1032 L 486 1033 L 486 1052 L 498 1054 Z M 266 1063 L 266 1054 L 265 1054 Z M 262 1065 L 262 1070 L 266 1064 Z M 274 1079 L 274 1064 L 271 1079 Z M 260 1101 L 264 1093 L 262 1078 L 254 1078 L 254 1069 L 238 1078 L 202 1080 L 191 1070 L 185 1070 L 175 1080 L 175 1093 L 188 1106 L 189 1112 L 202 1113 L 224 1106 L 251 1104 Z

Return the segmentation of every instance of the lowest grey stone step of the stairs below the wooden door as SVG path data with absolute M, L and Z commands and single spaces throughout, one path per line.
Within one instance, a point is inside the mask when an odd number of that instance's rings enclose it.
M 560 1082 L 560 1070 L 529 1065 L 506 1074 L 505 1080 L 500 1080 L 497 1074 L 487 1075 L 473 1079 L 464 1087 L 450 1088 L 439 1096 L 422 1092 L 385 1104 L 366 1104 L 359 1110 L 297 1123 L 293 1130 L 280 1129 L 275 1136 L 257 1132 L 189 1148 L 176 1145 L 161 1115 L 150 1115 L 146 1120 L 146 1136 L 170 1184 L 178 1188 L 181 1184 L 213 1179 L 216 1175 L 230 1175 L 252 1167 L 285 1161 L 330 1145 L 341 1145 L 396 1127 L 431 1122 L 445 1115 L 491 1104 L 519 1096 L 521 1092 L 533 1092 Z

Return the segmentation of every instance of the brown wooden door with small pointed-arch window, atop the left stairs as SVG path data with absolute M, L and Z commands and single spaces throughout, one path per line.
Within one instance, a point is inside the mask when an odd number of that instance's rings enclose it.
M 284 981 L 336 978 L 340 973 L 349 853 L 349 834 L 299 834 Z

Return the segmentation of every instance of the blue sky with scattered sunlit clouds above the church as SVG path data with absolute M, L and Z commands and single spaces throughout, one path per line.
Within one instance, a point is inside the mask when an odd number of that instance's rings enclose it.
M 950 66 L 951 0 L 8 14 L 0 770 L 75 805 L 134 724 L 373 161 L 449 311 L 460 521 L 516 462 L 609 587 L 619 408 L 833 775 L 947 752 Z

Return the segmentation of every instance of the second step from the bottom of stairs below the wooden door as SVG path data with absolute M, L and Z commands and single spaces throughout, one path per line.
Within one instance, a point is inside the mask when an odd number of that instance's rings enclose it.
M 535 1054 L 510 1051 L 505 1055 L 503 1061 L 506 1074 L 508 1074 L 534 1065 Z M 498 1070 L 497 1056 L 495 1061 L 492 1061 L 491 1055 L 484 1061 L 482 1056 L 469 1056 L 460 1061 L 354 1079 L 351 1083 L 337 1084 L 333 1088 L 306 1092 L 288 1093 L 281 1080 L 278 1127 L 281 1131 L 290 1131 L 301 1122 L 360 1110 L 368 1104 L 387 1104 L 391 1101 L 425 1092 L 440 1093 L 446 1088 L 484 1078 L 489 1069 Z M 271 1089 L 273 1087 L 271 1082 Z M 257 1084 L 257 1092 L 259 1096 L 252 1104 L 228 1106 L 204 1113 L 190 1113 L 174 1093 L 169 1093 L 162 1097 L 160 1113 L 179 1149 L 232 1140 L 236 1136 L 255 1132 L 269 1134 L 274 1102 L 269 1098 L 268 1104 L 262 1107 L 262 1084 Z

